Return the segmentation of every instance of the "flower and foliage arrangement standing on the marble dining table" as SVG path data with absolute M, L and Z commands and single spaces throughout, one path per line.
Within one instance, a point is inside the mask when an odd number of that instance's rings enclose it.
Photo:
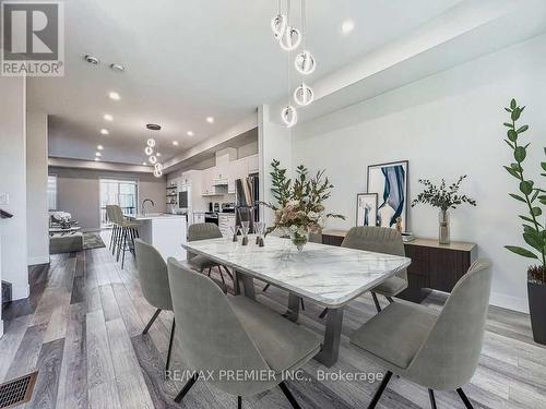
M 281 230 L 301 251 L 309 241 L 309 233 L 319 233 L 328 218 L 345 219 L 345 216 L 325 213 L 323 202 L 330 197 L 333 185 L 324 176 L 324 170 L 309 177 L 308 169 L 299 165 L 296 178 L 292 180 L 278 160 L 273 160 L 271 166 L 272 192 L 277 204 L 264 203 L 275 212 L 275 221 L 268 228 L 266 234 Z

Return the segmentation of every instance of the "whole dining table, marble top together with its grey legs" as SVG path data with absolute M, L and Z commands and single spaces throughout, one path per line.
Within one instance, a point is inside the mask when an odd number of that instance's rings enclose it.
M 236 294 L 256 300 L 254 279 L 286 290 L 288 320 L 298 320 L 300 298 L 328 308 L 324 339 L 314 357 L 325 366 L 337 361 L 345 305 L 411 264 L 404 256 L 311 242 L 298 251 L 289 239 L 271 236 L 263 244 L 251 236 L 247 245 L 241 238 L 221 238 L 189 241 L 182 248 L 230 267 Z

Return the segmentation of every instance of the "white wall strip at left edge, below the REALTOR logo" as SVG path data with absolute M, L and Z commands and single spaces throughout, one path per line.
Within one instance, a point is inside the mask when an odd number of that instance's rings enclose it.
M 0 76 L 0 205 L 14 214 L 0 221 L 1 278 L 12 284 L 13 299 L 28 297 L 26 256 L 26 81 Z

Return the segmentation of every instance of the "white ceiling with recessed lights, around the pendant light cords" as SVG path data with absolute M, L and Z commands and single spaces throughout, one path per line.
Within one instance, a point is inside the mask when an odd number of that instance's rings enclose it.
M 307 1 L 310 82 L 400 38 L 461 0 Z M 150 131 L 166 160 L 252 115 L 287 92 L 287 53 L 270 29 L 275 0 L 66 1 L 66 75 L 31 79 L 29 104 L 50 113 L 50 156 L 140 164 Z M 299 8 L 299 1 L 293 1 Z M 293 13 L 299 26 L 299 12 Z M 340 25 L 351 19 L 347 36 Z M 90 65 L 83 56 L 96 56 Z M 124 73 L 108 68 L 127 67 Z M 293 79 L 295 75 L 293 75 Z M 109 91 L 121 100 L 108 99 Z M 103 120 L 104 113 L 114 122 Z M 205 118 L 213 116 L 209 124 Z M 102 128 L 109 136 L 99 134 Z M 187 136 L 187 131 L 194 136 Z M 179 141 L 178 148 L 171 142 Z

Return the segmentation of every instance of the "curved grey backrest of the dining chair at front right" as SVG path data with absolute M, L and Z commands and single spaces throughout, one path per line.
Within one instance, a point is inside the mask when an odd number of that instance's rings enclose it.
M 490 288 L 491 266 L 477 260 L 453 288 L 408 366 L 419 384 L 453 390 L 471 381 L 482 351 Z

